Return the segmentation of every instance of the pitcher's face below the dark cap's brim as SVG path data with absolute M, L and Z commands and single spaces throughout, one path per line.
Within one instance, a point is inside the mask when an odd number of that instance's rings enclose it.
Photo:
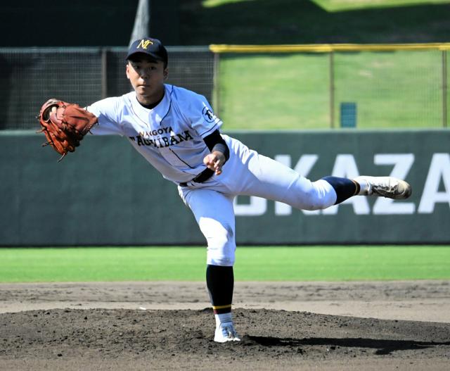
M 150 61 L 147 58 L 128 61 L 127 77 L 136 92 L 138 101 L 143 104 L 155 103 L 164 95 L 167 68 L 164 68 L 162 61 Z

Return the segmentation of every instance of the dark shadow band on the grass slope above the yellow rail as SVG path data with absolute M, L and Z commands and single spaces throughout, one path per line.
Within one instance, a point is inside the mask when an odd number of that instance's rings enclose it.
M 450 34 L 449 11 L 449 4 L 423 4 L 328 12 L 307 0 L 238 1 L 204 8 L 201 0 L 190 0 L 183 1 L 179 8 L 179 42 L 200 45 L 446 42 Z M 155 30 L 158 34 L 170 32 L 165 28 L 172 23 L 160 24 L 162 29 Z

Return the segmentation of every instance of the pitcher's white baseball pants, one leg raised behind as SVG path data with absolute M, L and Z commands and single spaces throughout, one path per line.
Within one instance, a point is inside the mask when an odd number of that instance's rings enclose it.
M 336 192 L 325 180 L 311 182 L 295 170 L 262 156 L 226 135 L 230 158 L 221 175 L 204 183 L 179 187 L 207 240 L 207 264 L 233 266 L 236 251 L 233 199 L 242 194 L 318 210 L 336 202 Z

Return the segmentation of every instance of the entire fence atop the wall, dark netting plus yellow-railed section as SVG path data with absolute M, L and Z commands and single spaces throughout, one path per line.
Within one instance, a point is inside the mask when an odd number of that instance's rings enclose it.
M 448 127 L 450 44 L 169 46 L 169 83 L 228 130 Z M 1 129 L 32 129 L 50 97 L 129 92 L 126 47 L 0 48 Z

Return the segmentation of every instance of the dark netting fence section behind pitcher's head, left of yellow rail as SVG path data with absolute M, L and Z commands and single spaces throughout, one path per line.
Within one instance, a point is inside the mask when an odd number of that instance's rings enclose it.
M 212 99 L 214 58 L 207 46 L 171 46 L 169 82 Z M 131 91 L 127 47 L 0 48 L 0 130 L 39 127 L 49 98 L 81 106 Z

